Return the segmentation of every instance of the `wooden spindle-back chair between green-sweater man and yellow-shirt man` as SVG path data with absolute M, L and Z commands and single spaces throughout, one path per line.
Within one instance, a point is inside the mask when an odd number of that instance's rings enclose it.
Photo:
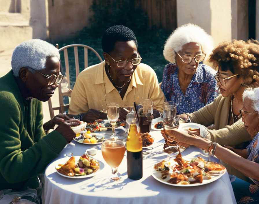
M 92 52 L 95 53 L 95 55 L 99 58 L 99 60 L 102 62 L 103 60 L 101 59 L 100 55 L 91 47 L 87 45 L 82 45 L 82 44 L 72 44 L 72 45 L 66 45 L 62 48 L 60 48 L 58 51 L 64 52 L 64 61 L 65 61 L 65 70 L 66 74 L 64 75 L 64 78 L 62 82 L 58 85 L 58 100 L 59 100 L 59 106 L 53 107 L 51 103 L 51 98 L 49 99 L 49 114 L 50 117 L 53 118 L 55 116 L 54 110 L 59 110 L 59 113 L 64 113 L 66 110 L 69 109 L 69 102 L 70 102 L 70 97 L 72 93 L 72 89 L 70 87 L 70 78 L 69 78 L 69 57 L 68 57 L 68 52 L 67 48 L 74 48 L 74 57 L 75 57 L 75 72 L 76 72 L 76 77 L 79 74 L 79 60 L 78 60 L 78 47 L 83 47 L 84 48 L 84 69 L 88 67 L 88 50 L 91 50 Z M 56 48 L 58 48 L 58 44 L 56 44 Z M 61 65 L 60 65 L 61 67 Z M 68 96 L 69 97 L 69 102 L 67 104 L 64 104 L 63 101 L 63 96 Z

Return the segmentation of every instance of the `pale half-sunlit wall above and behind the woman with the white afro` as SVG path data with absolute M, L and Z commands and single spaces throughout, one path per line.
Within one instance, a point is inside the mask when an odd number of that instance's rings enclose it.
M 231 0 L 177 0 L 177 26 L 185 23 L 199 25 L 215 45 L 231 40 Z

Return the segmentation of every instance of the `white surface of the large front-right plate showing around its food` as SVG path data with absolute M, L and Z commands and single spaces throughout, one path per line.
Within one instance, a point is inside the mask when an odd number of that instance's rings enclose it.
M 171 158 L 173 160 L 173 158 Z M 170 161 L 172 161 L 170 160 Z M 188 159 L 187 159 L 188 160 Z M 191 160 L 191 159 L 189 159 Z M 175 162 L 175 161 L 172 161 Z M 172 165 L 172 163 L 171 163 Z M 208 180 L 203 180 L 202 183 L 193 183 L 193 184 L 173 184 L 173 183 L 168 183 L 168 180 L 170 179 L 170 175 L 168 175 L 165 179 L 162 179 L 162 174 L 161 171 L 157 171 L 156 169 L 154 169 L 154 167 L 151 167 L 151 175 L 153 176 L 153 178 L 155 178 L 157 181 L 164 183 L 166 185 L 172 185 L 172 186 L 180 186 L 180 187 L 191 187 L 191 186 L 199 186 L 199 185 L 205 185 L 207 183 L 211 183 L 213 181 L 216 181 L 217 179 L 219 179 L 221 176 L 223 176 L 226 173 L 226 169 L 224 171 L 223 174 L 218 174 L 217 176 L 211 176 L 211 179 Z

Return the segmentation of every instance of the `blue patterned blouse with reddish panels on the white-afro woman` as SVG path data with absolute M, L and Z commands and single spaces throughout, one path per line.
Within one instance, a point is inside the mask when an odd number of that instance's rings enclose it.
M 161 89 L 167 101 L 177 103 L 177 115 L 192 113 L 211 103 L 219 95 L 217 72 L 207 65 L 200 64 L 183 94 L 178 80 L 178 66 L 168 64 L 164 68 Z

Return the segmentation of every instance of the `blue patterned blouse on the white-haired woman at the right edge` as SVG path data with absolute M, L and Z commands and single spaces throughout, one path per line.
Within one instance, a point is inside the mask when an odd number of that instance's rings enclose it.
M 258 143 L 258 137 L 259 133 L 254 137 L 254 139 L 251 141 L 251 143 L 246 147 L 247 148 L 247 154 L 248 154 L 248 160 L 254 161 L 256 163 L 259 163 L 259 143 Z M 252 178 L 251 178 L 252 179 Z M 254 183 L 259 185 L 259 181 L 252 179 Z

